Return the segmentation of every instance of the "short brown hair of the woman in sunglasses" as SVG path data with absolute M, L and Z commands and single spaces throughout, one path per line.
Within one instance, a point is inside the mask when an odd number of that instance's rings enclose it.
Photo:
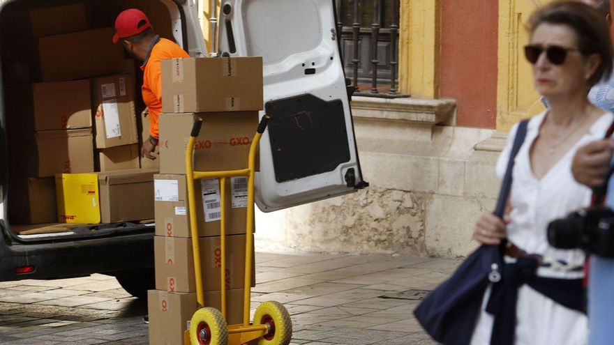
M 585 3 L 555 1 L 537 9 L 529 20 L 531 34 L 540 24 L 562 24 L 576 32 L 578 49 L 583 55 L 599 54 L 601 64 L 588 79 L 593 86 L 612 74 L 612 40 L 604 15 Z

